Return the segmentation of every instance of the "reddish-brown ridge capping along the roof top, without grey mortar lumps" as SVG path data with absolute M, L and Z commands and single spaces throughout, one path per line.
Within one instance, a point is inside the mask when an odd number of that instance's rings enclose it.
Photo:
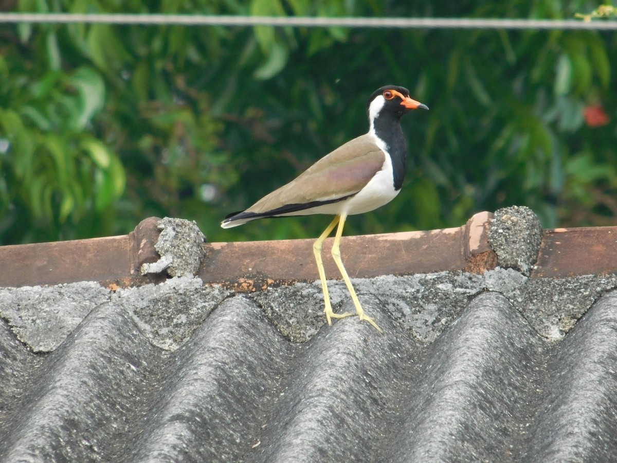
M 482 273 L 497 259 L 487 241 L 490 212 L 479 212 L 462 227 L 346 236 L 341 253 L 352 278 L 462 270 Z M 165 275 L 139 273 L 159 259 L 154 249 L 160 231 L 149 217 L 128 235 L 0 246 L 0 287 L 97 281 L 114 288 L 161 282 Z M 263 282 L 317 280 L 314 240 L 206 243 L 198 277 L 204 284 L 256 286 Z M 323 257 L 328 278 L 339 277 Z M 531 278 L 562 278 L 617 273 L 617 227 L 544 230 Z M 263 287 L 263 285 L 261 285 Z

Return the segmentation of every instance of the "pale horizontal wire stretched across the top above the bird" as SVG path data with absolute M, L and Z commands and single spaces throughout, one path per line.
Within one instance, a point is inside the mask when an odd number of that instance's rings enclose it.
M 617 30 L 617 21 L 459 18 L 269 17 L 168 14 L 0 13 L 0 23 L 90 23 L 185 26 L 379 27 L 416 29 Z

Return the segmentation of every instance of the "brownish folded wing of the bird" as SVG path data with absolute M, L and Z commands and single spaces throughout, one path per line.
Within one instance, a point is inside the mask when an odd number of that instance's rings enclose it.
M 370 135 L 358 136 L 322 157 L 287 185 L 264 196 L 246 212 L 262 213 L 287 204 L 352 196 L 382 169 L 385 161 L 386 154 Z

